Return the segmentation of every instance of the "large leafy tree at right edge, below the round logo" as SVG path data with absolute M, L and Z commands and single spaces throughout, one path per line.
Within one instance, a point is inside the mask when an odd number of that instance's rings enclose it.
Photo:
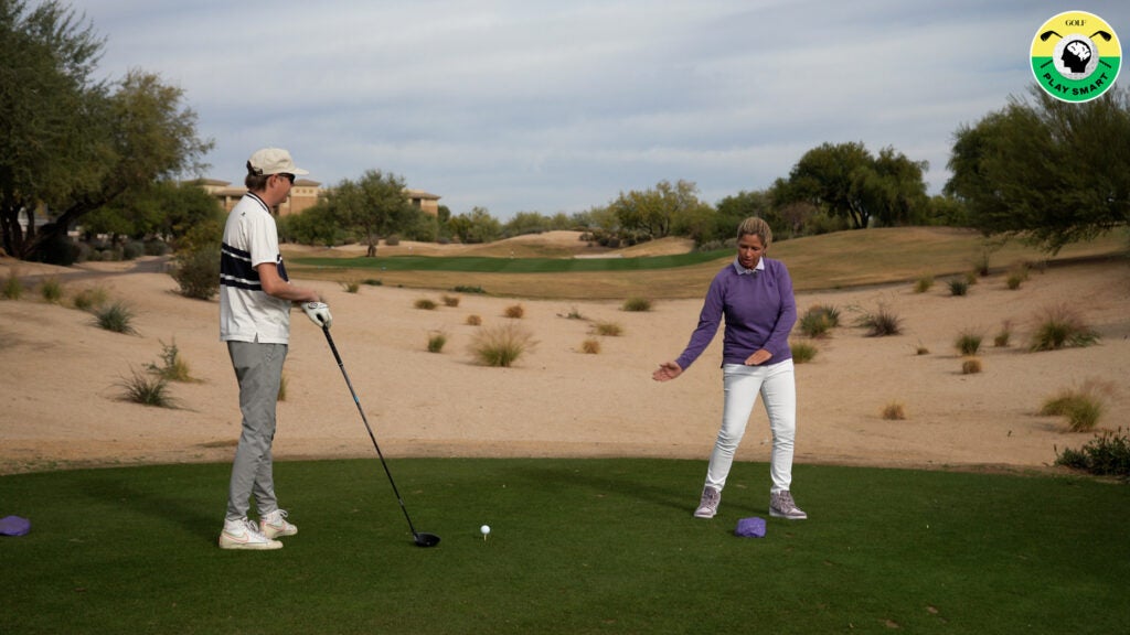
M 956 133 L 947 194 L 986 235 L 1057 253 L 1130 221 L 1130 93 L 1060 102 L 1038 86 Z

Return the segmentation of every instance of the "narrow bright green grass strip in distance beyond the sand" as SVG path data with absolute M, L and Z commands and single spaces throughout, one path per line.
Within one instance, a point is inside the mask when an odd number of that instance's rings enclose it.
M 564 273 L 641 271 L 702 264 L 731 256 L 731 250 L 646 258 L 481 258 L 395 255 L 391 258 L 292 258 L 305 267 L 377 271 L 463 271 L 473 273 Z

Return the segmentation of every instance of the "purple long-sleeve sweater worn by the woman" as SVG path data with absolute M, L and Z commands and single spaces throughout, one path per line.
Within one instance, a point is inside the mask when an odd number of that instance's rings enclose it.
M 762 268 L 764 264 L 764 268 Z M 745 364 L 764 348 L 773 354 L 766 366 L 792 359 L 789 332 L 797 322 L 792 279 L 780 260 L 762 258 L 758 269 L 742 269 L 737 259 L 714 276 L 698 315 L 698 327 L 675 360 L 686 371 L 702 355 L 725 316 L 722 364 Z

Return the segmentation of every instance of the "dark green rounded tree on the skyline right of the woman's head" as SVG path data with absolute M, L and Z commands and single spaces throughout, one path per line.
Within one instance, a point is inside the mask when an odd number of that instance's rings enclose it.
M 862 142 L 823 143 L 805 153 L 788 181 L 774 185 L 779 203 L 808 201 L 857 229 L 913 223 L 924 211 L 927 162 L 894 148 L 875 157 Z M 873 220 L 872 220 L 873 219 Z

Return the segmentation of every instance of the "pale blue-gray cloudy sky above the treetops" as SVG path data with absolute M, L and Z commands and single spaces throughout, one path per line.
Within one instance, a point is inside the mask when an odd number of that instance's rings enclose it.
M 1080 5 L 1080 6 L 1076 6 Z M 88 0 L 99 70 L 159 73 L 242 183 L 259 147 L 331 185 L 367 169 L 484 207 L 572 214 L 663 180 L 709 202 L 823 142 L 893 146 L 949 174 L 953 134 L 1034 84 L 1033 37 L 1092 0 Z M 1127 52 L 1123 51 L 1123 54 Z M 1130 81 L 1122 73 L 1120 84 Z

